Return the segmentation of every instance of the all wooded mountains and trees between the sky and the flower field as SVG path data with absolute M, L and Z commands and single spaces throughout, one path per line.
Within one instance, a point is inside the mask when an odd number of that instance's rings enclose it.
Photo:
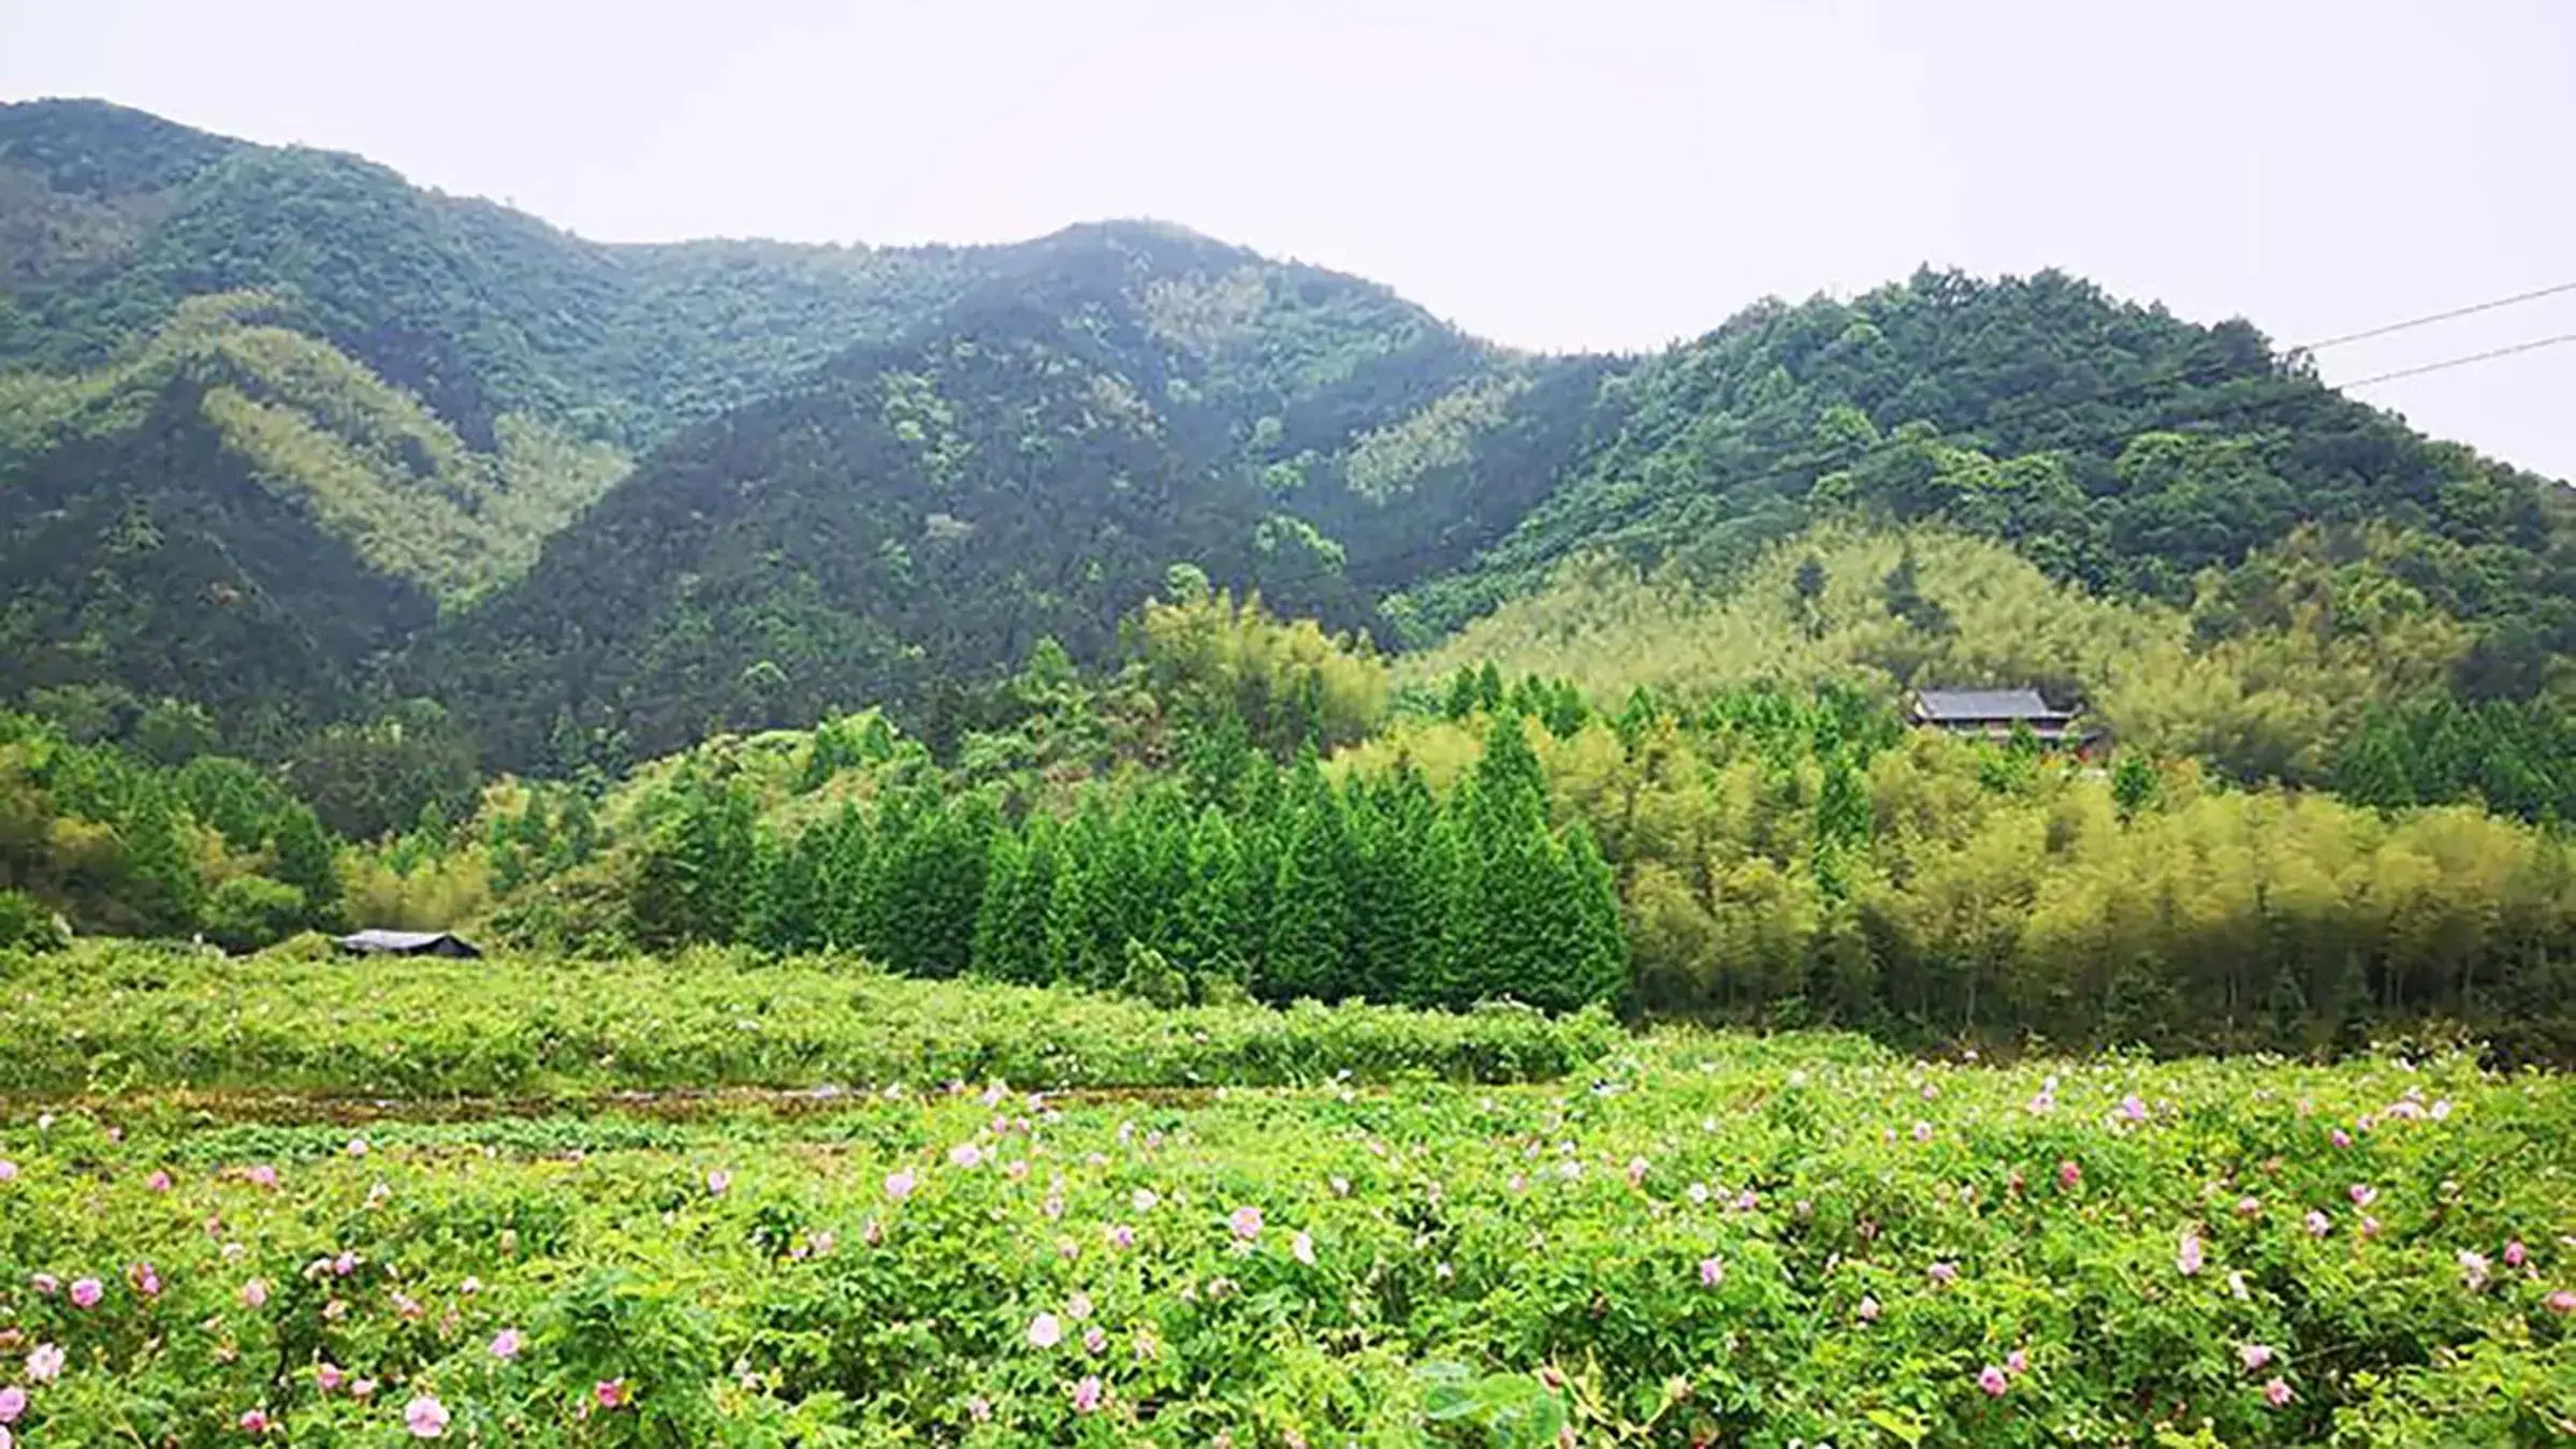
M 2563 484 L 2071 275 L 1538 358 L 0 106 L 0 934 L 2568 1055 Z M 2030 685 L 2110 754 L 1901 726 Z

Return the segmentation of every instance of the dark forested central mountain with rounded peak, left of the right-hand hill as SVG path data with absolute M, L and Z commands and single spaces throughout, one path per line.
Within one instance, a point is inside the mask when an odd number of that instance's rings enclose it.
M 920 705 L 1038 638 L 1100 659 L 1175 564 L 1363 623 L 1543 492 L 1548 466 L 1479 476 L 1468 435 L 1592 371 L 1180 229 L 1077 226 L 672 440 L 451 618 L 417 687 L 562 762 Z

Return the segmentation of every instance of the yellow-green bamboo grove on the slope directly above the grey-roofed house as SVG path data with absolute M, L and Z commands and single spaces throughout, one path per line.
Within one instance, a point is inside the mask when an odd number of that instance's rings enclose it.
M 2102 600 L 1947 528 L 1819 528 L 1723 592 L 1669 564 L 1569 566 L 1404 672 L 1435 687 L 1499 661 L 1602 700 L 1636 687 L 1700 700 L 1744 685 L 1860 685 L 1893 703 L 1919 685 L 2035 685 L 2133 749 L 2246 782 L 2339 785 L 2365 718 L 2447 700 L 2473 654 L 2470 631 L 2383 571 L 2375 543 L 2388 538 L 2298 533 L 2202 579 L 2192 607 L 2174 610 Z M 2540 754 L 2527 762 L 2545 762 L 2545 744 L 2530 749 Z M 2424 795 L 2450 798 L 2463 795 Z

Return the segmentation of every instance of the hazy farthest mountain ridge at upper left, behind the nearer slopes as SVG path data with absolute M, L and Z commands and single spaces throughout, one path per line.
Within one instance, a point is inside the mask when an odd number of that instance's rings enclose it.
M 98 100 L 0 106 L 0 363 L 98 365 L 258 288 L 474 448 L 505 414 L 636 453 L 956 296 L 979 250 L 600 245 L 340 152 Z

